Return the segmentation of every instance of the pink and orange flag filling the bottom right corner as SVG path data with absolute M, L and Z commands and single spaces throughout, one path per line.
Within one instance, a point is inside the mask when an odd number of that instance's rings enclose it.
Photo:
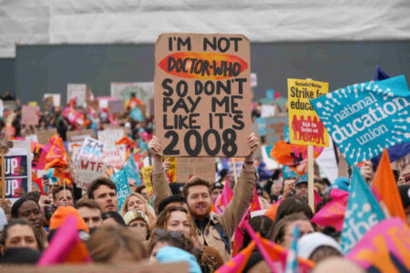
M 369 230 L 347 254 L 366 272 L 410 272 L 410 229 L 399 217 Z

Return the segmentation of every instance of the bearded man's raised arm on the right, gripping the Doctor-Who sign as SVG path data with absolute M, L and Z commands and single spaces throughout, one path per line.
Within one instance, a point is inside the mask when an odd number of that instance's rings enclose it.
M 231 203 L 220 215 L 219 220 L 225 232 L 231 238 L 235 228 L 241 221 L 248 207 L 251 205 L 256 185 L 256 169 L 253 165 L 253 153 L 259 146 L 258 138 L 254 133 L 248 136 L 248 145 L 251 147 L 251 154 L 245 157 L 238 184 L 233 190 Z

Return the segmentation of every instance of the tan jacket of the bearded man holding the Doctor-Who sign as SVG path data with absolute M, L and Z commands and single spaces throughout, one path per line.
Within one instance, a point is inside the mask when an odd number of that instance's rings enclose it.
M 219 222 L 231 241 L 236 227 L 241 222 L 241 218 L 245 214 L 248 207 L 251 205 L 256 179 L 255 167 L 244 164 L 241 170 L 241 175 L 238 178 L 238 185 L 236 185 L 233 190 L 231 203 L 228 207 L 226 207 L 225 211 L 221 215 L 216 215 L 213 213 L 210 214 L 210 221 L 205 227 L 205 232 L 203 234 L 200 229 L 197 228 L 200 243 L 205 245 L 206 242 L 206 245 L 217 249 L 218 252 L 220 252 L 220 257 L 223 258 L 224 262 L 231 259 L 231 254 L 228 249 L 225 248 L 225 243 L 214 225 Z M 163 198 L 172 195 L 165 174 L 153 174 L 152 187 L 154 191 L 154 208 L 158 211 L 159 202 Z

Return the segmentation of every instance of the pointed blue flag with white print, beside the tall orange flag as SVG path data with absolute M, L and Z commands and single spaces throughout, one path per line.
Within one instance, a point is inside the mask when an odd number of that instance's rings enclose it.
M 367 231 L 382 220 L 382 208 L 360 175 L 360 169 L 354 166 L 340 238 L 343 253 L 347 254 Z

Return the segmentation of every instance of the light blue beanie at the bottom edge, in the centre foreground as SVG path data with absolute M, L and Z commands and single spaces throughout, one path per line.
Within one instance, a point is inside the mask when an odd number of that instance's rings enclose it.
M 180 248 L 160 248 L 156 258 L 160 263 L 186 262 L 190 265 L 190 273 L 202 272 L 200 269 L 200 265 L 197 262 L 197 259 L 192 254 Z

